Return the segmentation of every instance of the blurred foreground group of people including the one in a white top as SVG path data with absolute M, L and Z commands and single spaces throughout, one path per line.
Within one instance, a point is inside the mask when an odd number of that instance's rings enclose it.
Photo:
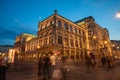
M 43 54 L 38 61 L 38 78 L 43 77 L 43 80 L 66 80 L 66 60 L 67 57 L 63 55 L 61 57 L 62 66 L 58 67 L 56 55 L 53 52 Z

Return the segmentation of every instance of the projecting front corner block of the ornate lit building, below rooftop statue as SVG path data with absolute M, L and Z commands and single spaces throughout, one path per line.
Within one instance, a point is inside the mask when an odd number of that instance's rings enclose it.
M 86 30 L 56 14 L 39 23 L 38 38 L 41 48 L 50 47 L 46 48 L 48 52 L 60 52 L 72 59 L 80 59 L 86 49 Z

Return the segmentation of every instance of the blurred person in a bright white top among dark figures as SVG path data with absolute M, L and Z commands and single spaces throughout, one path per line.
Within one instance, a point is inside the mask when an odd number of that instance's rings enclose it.
M 53 52 L 50 52 L 50 78 L 52 78 L 55 65 L 56 65 L 56 56 Z

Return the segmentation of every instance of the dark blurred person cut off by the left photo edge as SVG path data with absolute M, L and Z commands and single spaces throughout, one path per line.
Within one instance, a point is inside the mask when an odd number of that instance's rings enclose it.
M 4 57 L 0 59 L 0 80 L 6 80 L 6 70 L 9 65 Z

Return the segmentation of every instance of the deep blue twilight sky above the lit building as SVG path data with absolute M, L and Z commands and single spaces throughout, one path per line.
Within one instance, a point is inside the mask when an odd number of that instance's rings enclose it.
M 120 40 L 120 0 L 0 0 L 0 45 L 13 45 L 21 33 L 36 34 L 38 21 L 55 9 L 73 22 L 93 16 L 111 40 Z

